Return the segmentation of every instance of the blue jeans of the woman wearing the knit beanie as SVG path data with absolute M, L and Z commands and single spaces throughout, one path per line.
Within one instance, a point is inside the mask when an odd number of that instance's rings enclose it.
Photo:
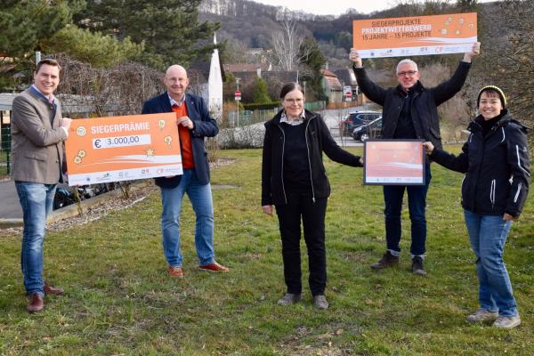
M 465 225 L 476 255 L 481 308 L 501 316 L 517 315 L 512 283 L 503 261 L 506 238 L 512 222 L 502 215 L 473 214 L 464 210 Z

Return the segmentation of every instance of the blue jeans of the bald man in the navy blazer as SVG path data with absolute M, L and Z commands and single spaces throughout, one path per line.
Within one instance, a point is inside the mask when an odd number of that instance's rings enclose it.
M 187 193 L 197 215 L 195 246 L 200 265 L 214 262 L 214 203 L 211 185 L 200 184 L 194 169 L 184 169 L 180 184 L 175 188 L 161 188 L 163 213 L 163 252 L 169 266 L 182 266 L 180 249 L 180 213 L 183 195 Z

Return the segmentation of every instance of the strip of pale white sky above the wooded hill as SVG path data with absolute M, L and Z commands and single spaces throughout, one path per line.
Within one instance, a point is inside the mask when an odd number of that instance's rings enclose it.
M 398 3 L 397 0 L 253 0 L 256 3 L 275 6 L 285 6 L 289 10 L 303 10 L 317 15 L 340 15 L 353 8 L 361 13 L 375 12 L 390 9 Z M 488 3 L 494 0 L 479 0 L 479 3 Z M 451 0 L 452 4 L 453 1 Z

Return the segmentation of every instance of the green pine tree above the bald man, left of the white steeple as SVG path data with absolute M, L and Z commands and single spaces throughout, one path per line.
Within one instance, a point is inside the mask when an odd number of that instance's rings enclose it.
M 79 26 L 143 44 L 139 60 L 151 67 L 188 66 L 198 56 L 211 53 L 211 39 L 219 27 L 207 21 L 199 23 L 200 1 L 87 0 L 86 10 L 77 14 L 76 20 Z

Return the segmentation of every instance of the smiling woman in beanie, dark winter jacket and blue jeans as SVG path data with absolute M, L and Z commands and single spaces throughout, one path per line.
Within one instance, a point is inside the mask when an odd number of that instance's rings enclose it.
M 464 173 L 462 206 L 471 246 L 477 257 L 478 311 L 469 322 L 493 322 L 497 328 L 521 324 L 503 252 L 514 219 L 529 192 L 530 158 L 526 127 L 506 109 L 506 96 L 495 85 L 484 86 L 477 99 L 480 115 L 468 129 L 469 139 L 457 157 L 425 142 L 427 154 Z

